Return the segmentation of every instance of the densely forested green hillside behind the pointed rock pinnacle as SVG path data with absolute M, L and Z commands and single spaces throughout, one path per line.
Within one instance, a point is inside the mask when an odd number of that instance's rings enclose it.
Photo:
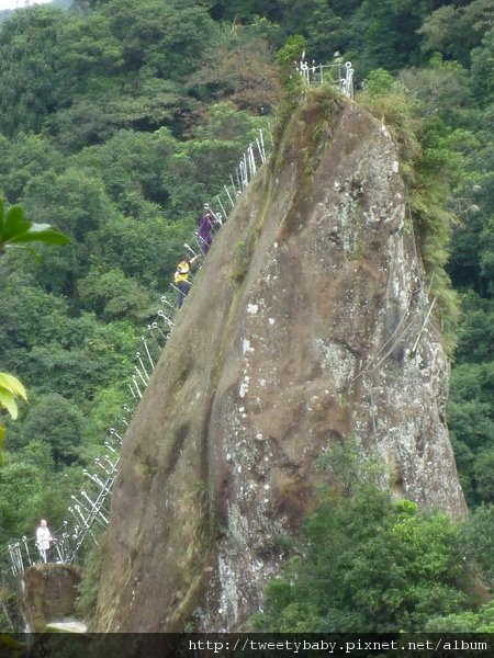
M 0 370 L 29 392 L 7 422 L 2 554 L 41 517 L 56 527 L 66 515 L 128 398 L 143 327 L 203 203 L 258 129 L 276 128 L 277 54 L 295 34 L 310 59 L 350 60 L 360 93 L 406 93 L 424 152 L 415 182 L 430 193 L 427 167 L 441 168 L 437 196 L 452 222 L 445 228 L 438 217 L 435 231 L 424 214 L 433 236 L 425 256 L 447 263 L 461 307 L 449 427 L 485 538 L 494 503 L 493 24 L 494 0 L 75 0 L 0 24 L 0 194 L 71 239 L 37 256 L 0 254 Z M 396 104 L 397 123 L 400 112 Z

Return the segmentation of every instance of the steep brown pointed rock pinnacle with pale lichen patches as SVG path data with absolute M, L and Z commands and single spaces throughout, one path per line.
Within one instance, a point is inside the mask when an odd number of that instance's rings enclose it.
M 423 280 L 389 132 L 308 102 L 218 234 L 125 436 L 100 631 L 238 627 L 330 441 L 464 512 Z

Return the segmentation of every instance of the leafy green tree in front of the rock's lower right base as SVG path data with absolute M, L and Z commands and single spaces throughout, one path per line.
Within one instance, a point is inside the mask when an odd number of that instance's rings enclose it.
M 297 556 L 267 589 L 254 627 L 269 632 L 416 632 L 468 610 L 460 530 L 388 492 L 357 489 L 319 504 Z

